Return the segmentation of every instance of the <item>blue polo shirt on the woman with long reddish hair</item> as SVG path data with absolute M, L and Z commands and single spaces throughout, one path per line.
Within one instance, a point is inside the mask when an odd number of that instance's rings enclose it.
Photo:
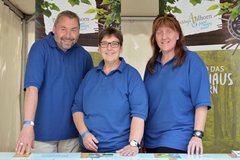
M 146 120 L 144 144 L 147 148 L 170 147 L 187 151 L 194 129 L 195 109 L 211 106 L 208 71 L 195 53 L 186 50 L 185 62 L 173 69 L 175 58 L 161 64 L 155 72 L 145 71 L 149 114 Z

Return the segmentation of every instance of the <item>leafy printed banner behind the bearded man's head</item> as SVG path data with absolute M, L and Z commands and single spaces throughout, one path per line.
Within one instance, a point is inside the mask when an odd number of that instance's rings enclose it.
M 101 59 L 100 56 L 96 54 L 99 31 L 106 26 L 120 28 L 120 0 L 116 0 L 114 3 L 103 0 L 39 0 L 36 2 L 36 11 L 40 12 L 36 17 L 36 40 L 45 37 L 52 31 L 58 13 L 64 10 L 71 10 L 77 13 L 80 18 L 80 36 L 78 43 L 87 51 L 92 52 L 91 54 L 95 65 L 98 64 L 99 59 Z M 70 3 L 73 3 L 73 6 Z M 57 7 L 60 11 L 56 11 Z M 51 15 L 46 14 L 46 12 L 50 12 Z

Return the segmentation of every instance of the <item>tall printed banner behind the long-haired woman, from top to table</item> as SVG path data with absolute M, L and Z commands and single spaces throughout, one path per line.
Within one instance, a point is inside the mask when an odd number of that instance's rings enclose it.
M 174 5 L 182 11 L 175 16 L 188 48 L 197 51 L 209 72 L 212 108 L 206 122 L 204 151 L 230 153 L 240 144 L 240 15 L 233 20 L 229 12 L 237 3 L 202 0 L 195 6 L 190 1 L 177 1 Z M 213 5 L 228 7 L 228 12 L 216 16 L 220 7 L 207 10 Z

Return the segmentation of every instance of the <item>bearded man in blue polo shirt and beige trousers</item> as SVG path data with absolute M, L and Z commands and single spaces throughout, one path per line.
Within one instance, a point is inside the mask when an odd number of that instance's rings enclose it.
M 61 12 L 53 31 L 33 44 L 26 67 L 24 122 L 16 152 L 76 152 L 78 131 L 72 120 L 75 92 L 93 66 L 77 44 L 79 17 Z M 35 141 L 34 141 L 35 140 Z

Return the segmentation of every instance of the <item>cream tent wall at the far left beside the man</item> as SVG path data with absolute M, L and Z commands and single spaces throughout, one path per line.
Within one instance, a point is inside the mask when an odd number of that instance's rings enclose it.
M 35 0 L 0 0 L 0 151 L 14 151 L 21 127 L 23 72 L 34 41 Z

